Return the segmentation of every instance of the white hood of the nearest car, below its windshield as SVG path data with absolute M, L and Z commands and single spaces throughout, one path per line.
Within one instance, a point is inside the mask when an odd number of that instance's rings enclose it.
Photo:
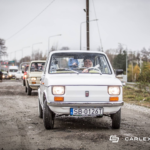
M 120 85 L 122 83 L 114 75 L 48 75 L 44 80 L 45 86 L 51 85 Z

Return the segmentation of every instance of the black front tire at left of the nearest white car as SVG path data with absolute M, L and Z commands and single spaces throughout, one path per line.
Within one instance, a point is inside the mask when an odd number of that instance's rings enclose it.
M 47 101 L 44 101 L 43 106 L 43 122 L 45 129 L 53 129 L 54 128 L 54 117 L 52 111 L 47 106 Z

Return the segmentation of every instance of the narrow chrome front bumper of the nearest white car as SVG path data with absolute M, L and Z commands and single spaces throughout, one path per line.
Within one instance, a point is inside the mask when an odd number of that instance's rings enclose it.
M 118 107 L 124 102 L 47 102 L 48 106 L 54 107 Z

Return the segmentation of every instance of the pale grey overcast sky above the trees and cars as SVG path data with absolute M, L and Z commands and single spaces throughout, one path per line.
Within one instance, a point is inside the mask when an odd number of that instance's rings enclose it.
M 58 34 L 61 36 L 50 38 L 50 47 L 57 45 L 58 49 L 63 46 L 80 49 L 80 24 L 86 21 L 86 13 L 83 11 L 86 0 L 55 0 L 44 10 L 52 1 L 0 0 L 0 38 L 6 40 L 9 54 L 23 48 L 24 56 L 31 55 L 32 48 L 34 51 L 46 51 L 48 37 Z M 98 22 L 90 22 L 92 50 L 101 46 L 98 31 L 104 50 L 117 48 L 118 43 L 132 50 L 150 48 L 150 0 L 89 1 L 90 20 L 98 19 Z M 86 48 L 85 25 L 82 24 L 82 49 Z M 16 57 L 19 59 L 21 56 L 21 51 L 17 51 Z M 9 57 L 12 59 L 14 53 Z

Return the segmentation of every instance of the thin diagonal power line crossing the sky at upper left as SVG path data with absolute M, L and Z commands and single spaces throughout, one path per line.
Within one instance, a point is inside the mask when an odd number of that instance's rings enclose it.
M 50 2 L 37 16 L 35 16 L 30 22 L 28 22 L 24 27 L 22 27 L 19 31 L 17 31 L 16 33 L 14 33 L 12 36 L 10 36 L 8 39 L 11 39 L 12 37 L 14 37 L 15 35 L 17 35 L 19 32 L 21 32 L 24 28 L 26 28 L 30 23 L 32 23 L 37 17 L 39 17 L 55 0 L 53 0 L 52 2 Z

